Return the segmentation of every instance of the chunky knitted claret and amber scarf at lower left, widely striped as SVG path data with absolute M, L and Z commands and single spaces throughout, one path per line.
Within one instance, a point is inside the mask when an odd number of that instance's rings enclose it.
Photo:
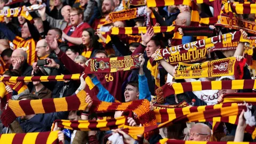
M 54 113 L 59 111 L 84 110 L 86 92 L 80 91 L 65 98 L 40 100 L 9 100 L 7 108 L 1 115 L 3 125 L 8 126 L 15 118 L 25 115 Z

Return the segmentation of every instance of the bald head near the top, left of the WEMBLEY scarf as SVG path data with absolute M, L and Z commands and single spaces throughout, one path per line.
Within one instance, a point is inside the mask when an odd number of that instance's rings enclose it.
M 178 14 L 177 19 L 175 20 L 175 25 L 177 26 L 189 26 L 191 22 L 191 13 L 190 12 L 181 12 Z

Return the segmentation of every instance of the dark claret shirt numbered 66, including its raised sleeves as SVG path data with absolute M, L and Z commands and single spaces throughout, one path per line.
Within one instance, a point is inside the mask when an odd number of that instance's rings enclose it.
M 143 53 L 145 46 L 140 45 L 133 54 Z M 65 65 L 71 74 L 82 74 L 84 67 L 78 65 L 71 60 L 66 53 L 60 51 L 58 59 Z M 94 73 L 99 79 L 100 83 L 109 91 L 111 95 L 118 101 L 122 101 L 122 84 L 129 77 L 132 70 L 130 71 L 117 71 L 116 73 Z M 95 94 L 94 94 L 95 95 Z M 96 96 L 97 97 L 97 96 Z

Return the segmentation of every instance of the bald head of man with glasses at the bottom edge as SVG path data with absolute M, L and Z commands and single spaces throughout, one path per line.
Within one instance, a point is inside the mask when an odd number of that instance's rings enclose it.
M 208 125 L 197 123 L 189 131 L 189 141 L 209 141 L 211 134 L 212 132 Z

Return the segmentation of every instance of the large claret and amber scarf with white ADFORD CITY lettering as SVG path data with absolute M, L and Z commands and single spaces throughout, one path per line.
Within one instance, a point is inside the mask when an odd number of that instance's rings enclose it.
M 171 65 L 176 65 L 178 62 L 196 62 L 206 59 L 207 50 L 213 51 L 230 50 L 228 43 L 245 42 L 249 45 L 249 40 L 244 39 L 240 31 L 233 33 L 214 36 L 200 41 L 191 42 L 183 45 L 168 47 L 166 49 L 156 50 L 155 61 L 166 59 Z M 223 48 L 225 47 L 225 48 Z M 245 48 L 245 53 L 252 54 L 250 47 Z M 248 59 L 247 59 L 248 60 Z

